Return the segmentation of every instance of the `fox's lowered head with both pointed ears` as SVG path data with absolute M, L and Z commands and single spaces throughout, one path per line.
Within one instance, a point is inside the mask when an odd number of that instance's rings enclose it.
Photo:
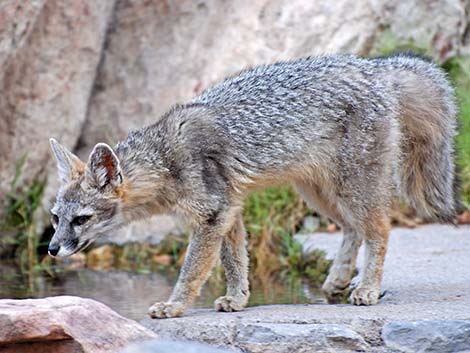
M 94 147 L 87 163 L 56 140 L 50 144 L 61 186 L 51 209 L 55 234 L 49 254 L 69 256 L 125 223 L 119 192 L 123 178 L 118 157 L 104 143 Z

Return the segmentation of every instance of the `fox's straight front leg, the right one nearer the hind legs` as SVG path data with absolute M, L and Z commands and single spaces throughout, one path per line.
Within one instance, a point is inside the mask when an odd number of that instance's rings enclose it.
M 227 294 L 214 302 L 218 311 L 241 311 L 250 296 L 246 231 L 241 214 L 222 241 L 220 251 L 227 280 Z

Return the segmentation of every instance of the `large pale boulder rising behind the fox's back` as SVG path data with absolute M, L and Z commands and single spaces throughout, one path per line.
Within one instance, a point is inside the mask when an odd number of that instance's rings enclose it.
M 82 141 L 117 141 L 227 75 L 307 55 L 396 45 L 459 53 L 465 6 L 445 1 L 118 1 Z M 391 39 L 392 40 L 392 39 Z

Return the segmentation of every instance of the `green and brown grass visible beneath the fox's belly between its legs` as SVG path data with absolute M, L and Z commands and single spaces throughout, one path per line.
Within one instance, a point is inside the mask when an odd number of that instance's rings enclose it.
M 317 284 L 323 282 L 331 262 L 321 251 L 304 254 L 293 238 L 311 212 L 291 187 L 271 187 L 248 197 L 244 220 L 250 267 L 262 282 L 273 276 L 305 276 Z

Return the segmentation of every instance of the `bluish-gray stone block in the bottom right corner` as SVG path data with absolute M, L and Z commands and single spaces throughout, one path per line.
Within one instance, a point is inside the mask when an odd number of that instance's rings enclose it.
M 392 322 L 384 326 L 382 338 L 399 352 L 470 352 L 470 321 Z

